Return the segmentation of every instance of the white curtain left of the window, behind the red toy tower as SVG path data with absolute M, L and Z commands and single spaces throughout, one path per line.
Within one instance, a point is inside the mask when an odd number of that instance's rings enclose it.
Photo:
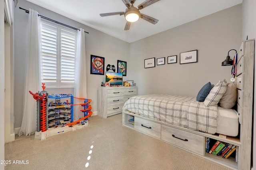
M 41 80 L 41 20 L 38 12 L 29 9 L 28 50 L 26 56 L 26 78 L 23 98 L 22 125 L 18 135 L 31 135 L 36 131 L 36 100 L 29 93 L 42 91 Z

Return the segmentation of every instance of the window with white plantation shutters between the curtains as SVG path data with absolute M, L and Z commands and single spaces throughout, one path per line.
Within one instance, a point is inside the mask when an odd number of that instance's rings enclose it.
M 41 29 L 43 82 L 74 87 L 77 33 L 46 22 Z

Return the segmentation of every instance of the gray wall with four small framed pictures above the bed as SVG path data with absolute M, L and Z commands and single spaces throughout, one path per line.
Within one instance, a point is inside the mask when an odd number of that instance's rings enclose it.
M 229 82 L 232 66 L 221 66 L 230 49 L 241 45 L 242 5 L 233 6 L 130 44 L 132 78 L 138 94 L 196 96 L 207 82 Z M 180 52 L 198 50 L 198 62 L 180 64 Z M 178 55 L 177 63 L 167 57 Z M 230 51 L 230 57 L 235 52 Z M 166 57 L 165 65 L 144 68 L 144 59 Z

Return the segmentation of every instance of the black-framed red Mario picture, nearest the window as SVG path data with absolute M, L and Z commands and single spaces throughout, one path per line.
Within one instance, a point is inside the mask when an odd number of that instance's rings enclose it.
M 104 57 L 91 55 L 91 74 L 104 75 Z

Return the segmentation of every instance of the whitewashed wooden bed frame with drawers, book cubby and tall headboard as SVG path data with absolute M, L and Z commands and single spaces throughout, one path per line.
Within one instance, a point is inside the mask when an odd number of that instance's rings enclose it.
M 237 74 L 234 82 L 238 90 L 237 112 L 240 123 L 240 134 L 238 137 L 211 135 L 200 131 L 193 131 L 185 127 L 178 127 L 142 117 L 128 110 L 123 110 L 122 125 L 170 143 L 188 152 L 200 155 L 228 168 L 250 170 L 253 127 L 254 45 L 254 39 L 243 41 L 238 51 Z M 134 125 L 128 122 L 132 118 L 134 118 Z M 235 158 L 229 157 L 226 159 L 222 158 L 222 156 L 205 152 L 206 138 L 236 145 Z

